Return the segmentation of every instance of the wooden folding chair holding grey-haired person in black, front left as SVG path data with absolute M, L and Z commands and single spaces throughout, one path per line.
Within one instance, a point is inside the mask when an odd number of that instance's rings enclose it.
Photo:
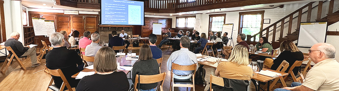
M 65 75 L 62 73 L 61 69 L 52 70 L 52 69 L 47 68 L 47 70 L 48 70 L 49 74 L 51 74 L 53 76 L 61 77 L 63 82 L 62 82 L 61 88 L 59 88 L 59 87 L 55 86 L 55 84 L 52 85 L 54 79 L 53 79 L 53 77 L 51 77 L 51 81 L 49 81 L 48 88 L 47 88 L 46 91 L 48 91 L 48 89 L 51 89 L 53 91 L 63 91 L 65 86 L 66 86 L 66 88 L 68 88 L 69 91 L 73 91 L 71 85 L 69 85 L 69 83 L 68 83 L 67 79 L 65 78 Z

